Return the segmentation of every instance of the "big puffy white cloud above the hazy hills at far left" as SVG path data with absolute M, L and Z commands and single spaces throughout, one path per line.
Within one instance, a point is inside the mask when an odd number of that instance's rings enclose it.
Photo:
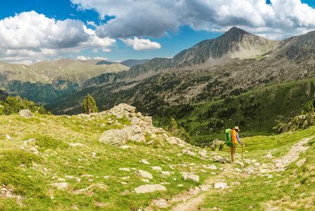
M 15 63 L 116 43 L 115 39 L 98 37 L 80 20 L 55 20 L 35 11 L 0 20 L 0 40 L 0 59 Z

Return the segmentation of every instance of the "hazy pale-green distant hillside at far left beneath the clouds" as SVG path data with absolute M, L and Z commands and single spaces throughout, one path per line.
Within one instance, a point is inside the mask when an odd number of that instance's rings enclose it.
M 67 92 L 79 89 L 86 79 L 105 72 L 128 69 L 121 64 L 91 65 L 70 58 L 46 60 L 33 65 L 0 62 L 0 88 L 10 95 L 46 104 Z

